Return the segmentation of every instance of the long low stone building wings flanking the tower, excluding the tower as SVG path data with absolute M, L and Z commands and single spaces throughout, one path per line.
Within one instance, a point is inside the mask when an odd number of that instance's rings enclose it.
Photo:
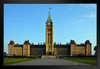
M 84 55 L 91 56 L 92 55 L 92 47 L 89 40 L 87 40 L 84 44 L 76 44 L 74 40 L 70 41 L 68 45 L 54 45 L 54 53 L 46 54 L 46 45 L 31 45 L 29 41 L 27 44 L 23 45 L 15 45 L 10 43 L 8 44 L 8 55 L 9 56 L 41 56 L 41 55 L 61 55 L 61 56 L 76 56 L 76 55 Z

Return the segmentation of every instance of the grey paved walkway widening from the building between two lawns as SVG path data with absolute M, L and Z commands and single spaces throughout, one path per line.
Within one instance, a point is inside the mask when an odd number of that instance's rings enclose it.
M 38 60 L 32 60 L 32 61 L 26 61 L 26 62 L 21 62 L 21 63 L 16 63 L 16 64 L 11 64 L 12 65 L 88 65 L 84 63 L 79 63 L 79 62 L 74 62 L 74 61 L 69 61 L 69 60 L 63 60 L 63 59 L 58 59 L 58 58 L 44 58 L 44 59 L 38 59 Z

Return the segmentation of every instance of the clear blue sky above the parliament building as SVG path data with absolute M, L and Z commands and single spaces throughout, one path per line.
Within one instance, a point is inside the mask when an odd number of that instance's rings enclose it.
M 52 8 L 49 10 L 49 8 Z M 96 4 L 4 4 L 4 51 L 11 40 L 45 42 L 46 21 L 50 11 L 53 21 L 53 41 L 77 44 L 90 40 L 92 54 L 97 44 Z

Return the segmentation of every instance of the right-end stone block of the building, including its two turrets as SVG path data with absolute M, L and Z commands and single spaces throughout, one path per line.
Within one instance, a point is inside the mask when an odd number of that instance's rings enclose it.
M 85 42 L 85 44 L 76 44 L 73 40 L 70 43 L 71 48 L 71 56 L 76 56 L 76 55 L 84 55 L 84 56 L 91 56 L 92 55 L 92 48 L 91 48 L 91 43 L 89 40 Z

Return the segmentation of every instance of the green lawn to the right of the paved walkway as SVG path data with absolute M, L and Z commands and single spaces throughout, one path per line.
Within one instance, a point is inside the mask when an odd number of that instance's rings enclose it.
M 62 57 L 61 59 L 81 62 L 90 65 L 97 65 L 96 57 Z

